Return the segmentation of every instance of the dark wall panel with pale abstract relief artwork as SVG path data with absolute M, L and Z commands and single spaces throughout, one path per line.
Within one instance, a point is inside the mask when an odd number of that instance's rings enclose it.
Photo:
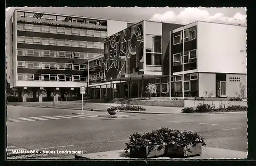
M 107 79 L 138 73 L 143 69 L 143 22 L 106 38 L 104 49 Z

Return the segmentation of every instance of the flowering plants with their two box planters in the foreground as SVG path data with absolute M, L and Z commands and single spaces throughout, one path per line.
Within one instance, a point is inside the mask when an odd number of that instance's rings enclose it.
M 160 128 L 144 134 L 135 132 L 126 143 L 125 152 L 130 150 L 132 158 L 147 158 L 154 156 L 191 156 L 200 155 L 202 146 L 206 146 L 203 137 L 196 132 L 179 131 Z M 158 151 L 158 152 L 156 152 Z

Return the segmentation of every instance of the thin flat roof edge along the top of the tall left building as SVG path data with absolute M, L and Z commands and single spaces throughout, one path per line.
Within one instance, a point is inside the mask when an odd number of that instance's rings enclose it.
M 57 14 L 57 13 L 48 13 L 48 12 L 36 12 L 36 11 L 30 11 L 30 10 L 23 10 L 23 9 L 15 9 L 15 11 L 18 12 L 28 12 L 28 13 L 40 13 L 40 14 L 47 14 L 47 15 L 54 15 L 54 16 L 61 16 L 61 17 L 76 17 L 76 18 L 88 18 L 88 19 L 98 19 L 102 21 L 107 21 L 107 20 L 113 20 L 113 21 L 120 21 L 120 20 L 115 20 L 115 19 L 104 19 L 104 18 L 96 18 L 96 17 L 81 17 L 81 16 L 75 16 L 75 15 L 68 15 L 68 14 Z M 127 23 L 134 23 L 136 22 L 131 22 L 131 21 L 120 21 L 120 22 L 127 22 Z

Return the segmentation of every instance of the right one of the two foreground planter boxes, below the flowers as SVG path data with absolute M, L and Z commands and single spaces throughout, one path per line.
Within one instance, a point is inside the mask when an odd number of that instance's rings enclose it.
M 170 147 L 168 150 L 167 148 Z M 202 154 L 202 145 L 196 144 L 195 147 L 193 145 L 188 145 L 180 150 L 179 145 L 166 145 L 165 146 L 165 155 L 166 156 L 175 156 L 175 157 L 188 157 L 188 156 L 196 156 Z

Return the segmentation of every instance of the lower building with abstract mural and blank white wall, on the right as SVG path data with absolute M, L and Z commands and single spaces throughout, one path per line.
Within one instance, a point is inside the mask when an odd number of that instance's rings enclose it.
M 141 21 L 104 39 L 103 69 L 112 98 L 144 96 L 148 82 L 156 96 L 182 96 L 183 82 L 185 97 L 246 98 L 246 26 Z

